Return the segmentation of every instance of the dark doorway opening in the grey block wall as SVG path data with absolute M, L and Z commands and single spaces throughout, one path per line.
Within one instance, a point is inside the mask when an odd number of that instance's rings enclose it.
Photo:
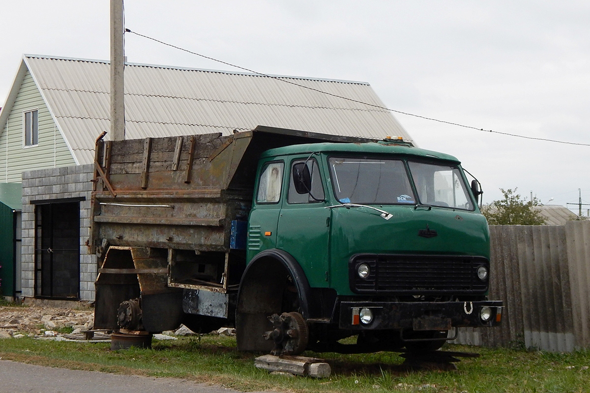
M 80 202 L 35 206 L 35 297 L 80 299 Z

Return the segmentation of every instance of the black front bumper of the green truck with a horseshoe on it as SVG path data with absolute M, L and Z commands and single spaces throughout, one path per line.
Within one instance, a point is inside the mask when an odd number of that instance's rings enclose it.
M 490 318 L 483 321 L 481 310 L 487 307 Z M 503 302 L 341 302 L 340 329 L 412 329 L 415 331 L 483 328 L 501 323 Z M 372 321 L 363 323 L 359 312 L 369 309 Z M 366 312 L 366 310 L 365 310 Z

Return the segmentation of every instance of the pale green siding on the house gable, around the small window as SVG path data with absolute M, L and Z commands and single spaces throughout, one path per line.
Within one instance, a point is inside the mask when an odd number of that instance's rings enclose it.
M 22 113 L 31 109 L 39 111 L 39 144 L 23 147 Z M 27 71 L 0 135 L 0 182 L 20 183 L 23 171 L 72 165 L 76 161 Z

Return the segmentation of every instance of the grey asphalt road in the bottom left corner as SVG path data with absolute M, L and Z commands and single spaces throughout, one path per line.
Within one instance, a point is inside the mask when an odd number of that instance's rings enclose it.
M 150 378 L 0 361 L 0 393 L 238 393 L 185 379 Z M 268 393 L 268 392 L 266 392 Z

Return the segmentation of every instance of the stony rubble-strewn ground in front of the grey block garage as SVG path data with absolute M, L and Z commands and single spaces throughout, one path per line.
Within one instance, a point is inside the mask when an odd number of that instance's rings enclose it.
M 23 335 L 45 335 L 45 331 L 63 328 L 87 330 L 94 324 L 94 309 L 53 308 L 40 305 L 0 306 L 0 338 Z

